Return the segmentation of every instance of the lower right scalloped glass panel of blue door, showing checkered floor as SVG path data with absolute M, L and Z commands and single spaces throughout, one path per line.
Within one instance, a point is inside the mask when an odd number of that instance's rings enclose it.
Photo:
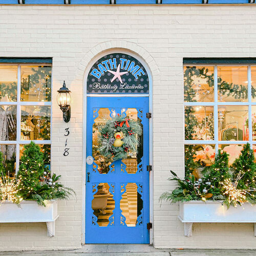
M 140 185 L 142 193 L 142 185 Z M 121 209 L 121 219 L 120 224 L 128 227 L 135 227 L 139 222 L 142 224 L 142 208 L 143 201 L 141 199 L 141 194 L 138 191 L 138 186 L 136 183 L 127 183 L 121 185 L 121 195 L 120 209 Z M 138 218 L 140 217 L 140 218 Z

